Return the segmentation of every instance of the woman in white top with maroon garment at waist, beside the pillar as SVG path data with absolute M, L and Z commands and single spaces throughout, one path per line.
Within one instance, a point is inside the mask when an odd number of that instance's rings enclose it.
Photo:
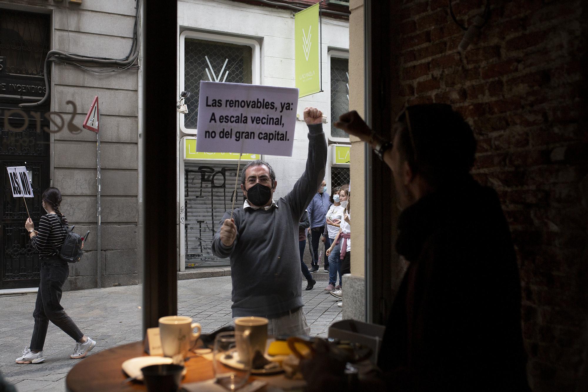
M 345 209 L 343 211 L 343 219 L 339 223 L 339 233 L 335 241 L 327 250 L 329 256 L 329 263 L 331 260 L 339 262 L 339 276 L 342 277 L 346 273 L 351 273 L 351 195 L 348 190 L 342 189 L 339 192 L 339 200 L 341 206 Z M 345 199 L 345 200 L 343 200 Z M 338 250 L 337 254 L 335 250 Z M 332 296 L 343 299 L 343 287 L 338 290 L 330 292 Z M 343 306 L 343 301 L 337 303 L 339 307 Z

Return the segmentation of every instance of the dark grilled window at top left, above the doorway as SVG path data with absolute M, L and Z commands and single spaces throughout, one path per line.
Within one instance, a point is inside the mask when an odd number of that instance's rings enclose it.
M 49 51 L 49 14 L 2 9 L 0 12 L 0 57 L 6 72 L 43 76 Z

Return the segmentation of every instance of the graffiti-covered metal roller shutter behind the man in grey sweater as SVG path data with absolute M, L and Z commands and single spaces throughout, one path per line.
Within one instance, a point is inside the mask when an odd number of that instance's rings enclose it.
M 220 219 L 230 210 L 237 165 L 185 162 L 186 267 L 228 264 L 212 254 L 211 242 Z M 238 189 L 235 207 L 243 203 Z

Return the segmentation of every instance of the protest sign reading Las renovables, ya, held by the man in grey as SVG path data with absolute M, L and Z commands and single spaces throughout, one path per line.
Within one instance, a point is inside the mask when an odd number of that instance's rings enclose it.
M 298 89 L 200 82 L 198 152 L 292 156 Z

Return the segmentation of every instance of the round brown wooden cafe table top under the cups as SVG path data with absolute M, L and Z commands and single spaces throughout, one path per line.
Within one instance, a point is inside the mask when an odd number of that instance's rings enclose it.
M 69 392 L 146 391 L 147 388 L 140 381 L 125 383 L 128 376 L 122 371 L 124 361 L 146 355 L 143 351 L 143 341 L 102 350 L 82 359 L 69 371 L 65 379 L 66 388 Z M 211 380 L 214 377 L 212 361 L 198 356 L 198 354 L 189 353 L 184 366 L 187 373 L 182 379 L 182 384 Z M 265 380 L 270 384 L 286 385 L 289 383 L 283 374 L 252 378 Z M 260 391 L 269 390 L 274 391 L 275 388 L 262 388 Z

